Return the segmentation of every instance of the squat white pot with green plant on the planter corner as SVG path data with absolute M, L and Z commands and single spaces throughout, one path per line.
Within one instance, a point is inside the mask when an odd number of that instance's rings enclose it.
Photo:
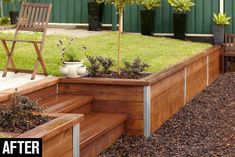
M 72 46 L 74 39 L 67 38 L 59 40 L 57 47 L 60 49 L 60 72 L 67 77 L 75 78 L 86 73 L 86 67 L 83 66 L 83 60 L 79 59 L 78 49 Z M 85 49 L 83 47 L 83 49 Z

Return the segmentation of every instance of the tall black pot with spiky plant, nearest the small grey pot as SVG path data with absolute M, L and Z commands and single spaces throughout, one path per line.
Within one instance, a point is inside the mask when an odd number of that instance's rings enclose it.
M 192 0 L 168 0 L 168 2 L 174 8 L 174 37 L 176 39 L 185 39 L 188 12 L 195 3 Z

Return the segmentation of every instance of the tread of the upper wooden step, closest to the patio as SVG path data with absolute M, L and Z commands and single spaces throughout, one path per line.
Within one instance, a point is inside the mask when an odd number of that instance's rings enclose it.
M 40 101 L 46 112 L 69 112 L 79 106 L 90 103 L 92 96 L 83 95 L 56 95 Z

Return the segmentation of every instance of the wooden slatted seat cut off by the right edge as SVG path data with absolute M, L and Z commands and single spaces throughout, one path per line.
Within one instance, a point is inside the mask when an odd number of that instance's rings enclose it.
M 235 34 L 225 34 L 224 54 L 222 56 L 222 70 L 226 72 L 228 59 L 235 57 Z

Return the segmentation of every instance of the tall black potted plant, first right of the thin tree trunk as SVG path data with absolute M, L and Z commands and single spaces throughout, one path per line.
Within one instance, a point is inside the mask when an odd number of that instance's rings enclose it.
M 141 18 L 141 34 L 152 35 L 154 31 L 154 15 L 153 8 L 160 6 L 160 0 L 141 0 L 140 4 L 144 9 L 140 11 Z

